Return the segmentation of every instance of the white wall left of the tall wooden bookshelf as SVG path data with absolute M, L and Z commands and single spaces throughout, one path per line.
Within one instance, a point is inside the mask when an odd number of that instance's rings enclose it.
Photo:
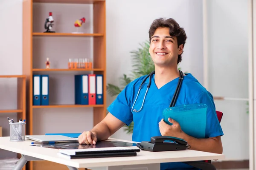
M 0 75 L 22 74 L 22 1 L 0 0 Z M 17 109 L 17 79 L 0 79 L 0 110 Z M 0 113 L 3 136 L 9 136 L 7 117 L 16 113 Z M 15 153 L 0 150 L 0 159 Z

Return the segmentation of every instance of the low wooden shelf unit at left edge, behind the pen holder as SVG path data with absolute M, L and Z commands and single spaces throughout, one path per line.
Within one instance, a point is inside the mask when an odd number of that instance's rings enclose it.
M 17 120 L 19 120 L 20 118 L 26 119 L 26 75 L 0 75 L 0 78 L 17 79 L 17 108 L 0 110 L 0 113 L 17 113 L 17 118 L 16 118 Z M 6 117 L 6 121 L 7 121 L 7 117 Z M 26 126 L 25 126 L 25 130 L 26 130 Z M 20 158 L 20 157 L 21 155 L 17 153 L 17 158 Z M 24 166 L 22 170 L 26 170 L 26 166 Z

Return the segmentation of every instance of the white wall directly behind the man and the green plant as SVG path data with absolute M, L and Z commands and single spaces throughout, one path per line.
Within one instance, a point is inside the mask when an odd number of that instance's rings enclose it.
M 106 12 L 107 83 L 119 85 L 122 74 L 131 74 L 130 51 L 149 40 L 149 27 L 160 17 L 174 18 L 185 29 L 188 38 L 180 67 L 203 82 L 201 0 L 160 0 L 158 3 L 155 0 L 107 0 Z M 108 95 L 108 105 L 113 100 Z M 113 137 L 131 139 L 122 129 Z

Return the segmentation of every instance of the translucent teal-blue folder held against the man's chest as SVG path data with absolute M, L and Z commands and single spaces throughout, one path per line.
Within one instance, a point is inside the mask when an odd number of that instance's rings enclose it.
M 166 108 L 163 111 L 163 119 L 169 125 L 168 118 L 174 119 L 180 124 L 181 129 L 195 138 L 205 138 L 207 105 L 189 104 Z

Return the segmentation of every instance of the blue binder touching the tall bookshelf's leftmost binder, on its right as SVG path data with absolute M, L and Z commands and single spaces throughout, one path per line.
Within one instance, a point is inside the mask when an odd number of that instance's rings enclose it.
M 49 75 L 41 75 L 41 105 L 49 105 Z

